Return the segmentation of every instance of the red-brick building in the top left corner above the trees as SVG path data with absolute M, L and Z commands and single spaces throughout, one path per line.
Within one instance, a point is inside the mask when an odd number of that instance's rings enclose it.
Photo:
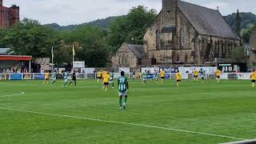
M 6 7 L 0 0 L 0 28 L 8 28 L 19 22 L 19 7 Z

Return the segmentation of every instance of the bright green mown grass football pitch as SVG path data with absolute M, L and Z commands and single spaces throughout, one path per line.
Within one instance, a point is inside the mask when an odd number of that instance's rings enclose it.
M 130 80 L 126 110 L 119 110 L 118 90 L 105 92 L 96 80 L 62 83 L 1 81 L 0 143 L 206 144 L 256 136 L 250 81 L 183 81 L 177 88 L 174 80 Z

